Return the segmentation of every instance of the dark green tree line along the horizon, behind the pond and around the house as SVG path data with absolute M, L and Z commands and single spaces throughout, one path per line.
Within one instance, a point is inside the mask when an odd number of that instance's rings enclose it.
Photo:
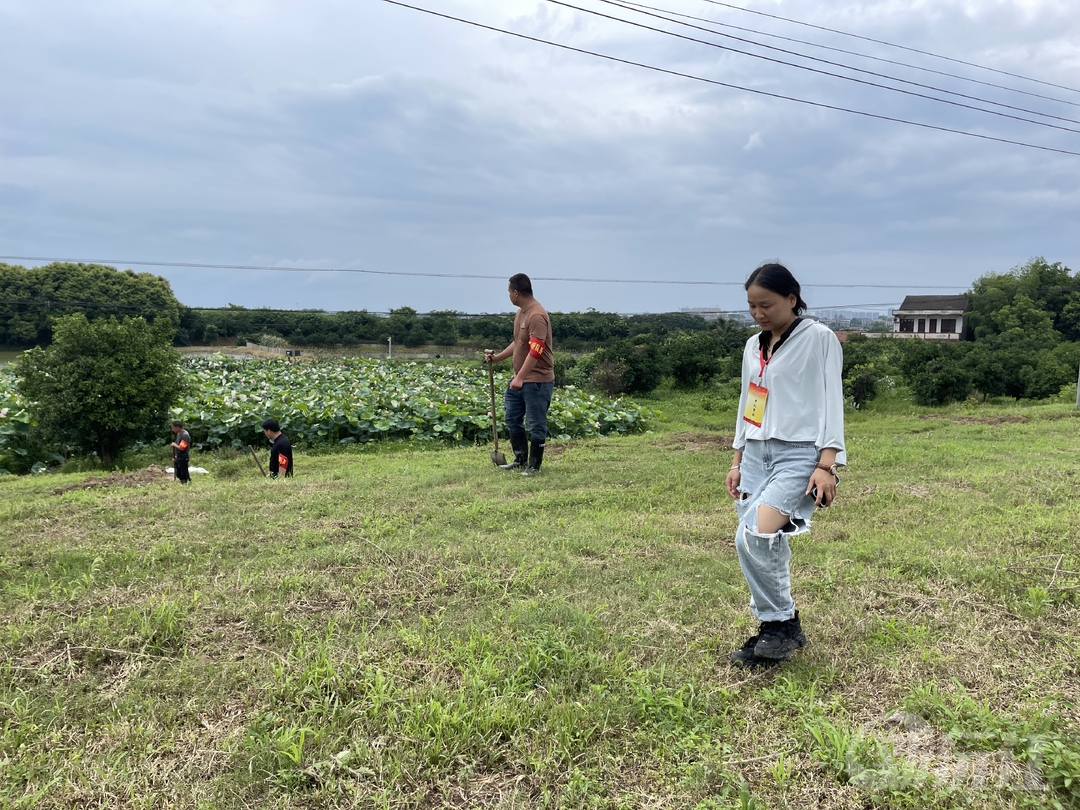
M 1076 381 L 1080 273 L 1034 258 L 1009 272 L 981 276 L 968 298 L 971 341 L 851 337 L 843 376 L 854 404 L 897 386 L 924 405 L 971 395 L 1044 399 Z M 410 307 L 388 314 L 237 305 L 194 309 L 176 299 L 165 279 L 150 273 L 68 262 L 0 265 L 0 346 L 48 346 L 54 319 L 73 312 L 90 321 L 117 315 L 164 321 L 176 346 L 221 338 L 259 342 L 266 336 L 306 347 L 354 347 L 387 338 L 410 347 L 501 346 L 513 325 L 511 313 L 419 313 Z M 680 312 L 626 316 L 588 310 L 553 312 L 551 318 L 561 383 L 644 393 L 670 378 L 685 389 L 713 386 L 724 396 L 738 393 L 732 383 L 751 334 L 738 323 Z

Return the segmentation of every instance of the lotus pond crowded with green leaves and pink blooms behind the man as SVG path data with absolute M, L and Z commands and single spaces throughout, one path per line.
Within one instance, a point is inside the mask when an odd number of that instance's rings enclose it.
M 274 417 L 294 443 L 364 444 L 380 440 L 476 444 L 490 441 L 490 392 L 482 363 L 437 365 L 382 360 L 243 360 L 189 357 L 191 382 L 172 409 L 200 449 L 243 447 L 261 438 L 259 423 Z M 496 373 L 496 417 L 509 366 Z M 25 450 L 30 413 L 15 393 L 13 367 L 0 368 L 0 457 Z M 657 411 L 572 387 L 556 389 L 550 434 L 582 438 L 634 433 Z

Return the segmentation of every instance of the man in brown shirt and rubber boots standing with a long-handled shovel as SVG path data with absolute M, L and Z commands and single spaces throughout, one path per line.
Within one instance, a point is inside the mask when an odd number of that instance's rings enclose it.
M 514 315 L 514 339 L 501 352 L 488 350 L 484 359 L 488 363 L 498 363 L 510 356 L 514 359 L 514 378 L 503 396 L 514 460 L 502 469 L 521 470 L 523 475 L 532 475 L 540 472 L 543 461 L 548 408 L 555 389 L 551 320 L 548 310 L 532 297 L 532 282 L 525 273 L 510 278 L 509 293 L 510 302 L 518 308 Z M 526 422 L 528 433 L 525 432 Z

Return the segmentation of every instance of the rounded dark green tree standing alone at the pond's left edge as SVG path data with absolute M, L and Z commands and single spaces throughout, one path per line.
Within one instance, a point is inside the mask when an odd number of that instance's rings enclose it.
M 58 318 L 53 342 L 18 360 L 18 392 L 46 442 L 94 450 L 112 464 L 120 451 L 160 434 L 183 387 L 173 325 L 141 318 Z

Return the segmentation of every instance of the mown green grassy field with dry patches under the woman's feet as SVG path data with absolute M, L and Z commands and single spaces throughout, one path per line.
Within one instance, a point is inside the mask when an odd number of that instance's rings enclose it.
M 650 404 L 535 478 L 0 481 L 0 807 L 1080 807 L 1075 408 L 851 415 L 748 673 L 733 413 Z

